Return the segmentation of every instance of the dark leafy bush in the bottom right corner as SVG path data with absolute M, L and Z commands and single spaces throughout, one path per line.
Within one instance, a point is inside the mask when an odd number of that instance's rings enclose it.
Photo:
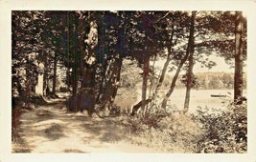
M 194 118 L 202 124 L 206 132 L 198 142 L 196 152 L 246 152 L 246 108 L 244 103 L 230 104 L 227 110 L 198 110 Z

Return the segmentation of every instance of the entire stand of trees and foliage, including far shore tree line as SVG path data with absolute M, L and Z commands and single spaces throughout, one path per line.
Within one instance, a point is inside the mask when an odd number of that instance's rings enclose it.
M 216 65 L 217 54 L 233 64 L 234 75 L 196 75 L 194 65 Z M 71 92 L 68 109 L 89 114 L 111 109 L 124 80 L 125 59 L 142 71 L 141 101 L 133 109 L 148 112 L 147 105 L 161 100 L 161 109 L 182 80 L 186 88 L 184 111 L 189 110 L 193 88 L 234 89 L 242 104 L 246 60 L 246 19 L 242 11 L 12 11 L 12 97 L 29 105 L 36 93 L 56 96 L 58 69 Z M 154 63 L 165 59 L 156 72 Z M 152 64 L 151 64 L 152 62 Z M 174 77 L 166 77 L 174 71 Z M 180 71 L 186 74 L 181 76 Z M 130 73 L 132 77 L 133 73 Z M 167 80 L 168 79 L 168 80 Z M 208 82 L 208 83 L 207 83 Z M 219 82 L 219 83 L 218 83 Z M 164 98 L 157 94 L 169 84 Z

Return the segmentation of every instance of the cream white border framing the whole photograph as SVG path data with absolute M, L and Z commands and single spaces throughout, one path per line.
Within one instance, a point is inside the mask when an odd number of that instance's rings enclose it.
M 256 1 L 0 0 L 0 162 L 246 161 L 256 162 Z M 248 140 L 246 153 L 12 153 L 12 10 L 243 10 L 247 17 Z

